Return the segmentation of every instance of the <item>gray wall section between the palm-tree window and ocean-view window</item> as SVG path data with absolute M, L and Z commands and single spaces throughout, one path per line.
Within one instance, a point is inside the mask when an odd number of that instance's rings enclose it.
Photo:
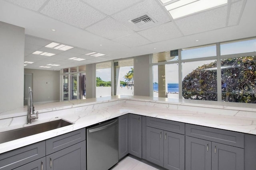
M 134 96 L 150 96 L 150 55 L 134 57 Z

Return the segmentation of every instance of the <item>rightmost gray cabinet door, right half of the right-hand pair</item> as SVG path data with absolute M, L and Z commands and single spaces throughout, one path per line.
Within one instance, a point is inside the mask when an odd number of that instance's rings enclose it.
M 244 149 L 212 142 L 212 170 L 244 170 Z

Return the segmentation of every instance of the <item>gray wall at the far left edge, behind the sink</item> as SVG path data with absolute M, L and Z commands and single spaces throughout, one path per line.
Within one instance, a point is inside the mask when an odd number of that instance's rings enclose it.
M 0 113 L 23 107 L 24 43 L 24 28 L 0 21 Z

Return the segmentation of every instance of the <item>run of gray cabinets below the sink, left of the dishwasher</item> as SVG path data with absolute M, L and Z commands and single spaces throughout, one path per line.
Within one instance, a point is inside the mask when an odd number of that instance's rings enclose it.
M 85 129 L 79 129 L 2 153 L 0 154 L 0 169 L 86 170 L 85 133 Z M 50 163 L 52 163 L 52 168 L 50 168 Z

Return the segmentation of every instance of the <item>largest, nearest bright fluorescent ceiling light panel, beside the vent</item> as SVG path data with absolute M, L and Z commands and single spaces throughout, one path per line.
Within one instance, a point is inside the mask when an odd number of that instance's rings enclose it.
M 180 0 L 165 6 L 173 19 L 208 10 L 228 3 L 228 0 Z M 171 9 L 171 10 L 170 10 Z

